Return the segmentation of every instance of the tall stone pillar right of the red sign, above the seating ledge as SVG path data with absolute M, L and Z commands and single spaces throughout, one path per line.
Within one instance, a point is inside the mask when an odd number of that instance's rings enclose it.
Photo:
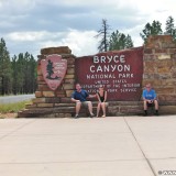
M 143 65 L 143 86 L 152 84 L 160 103 L 176 101 L 176 43 L 170 35 L 148 37 Z

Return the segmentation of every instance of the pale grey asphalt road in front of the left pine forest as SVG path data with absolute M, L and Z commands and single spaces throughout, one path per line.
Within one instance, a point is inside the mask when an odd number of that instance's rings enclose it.
M 32 98 L 35 98 L 35 95 L 6 96 L 6 97 L 0 97 L 0 103 L 20 102 L 30 100 Z

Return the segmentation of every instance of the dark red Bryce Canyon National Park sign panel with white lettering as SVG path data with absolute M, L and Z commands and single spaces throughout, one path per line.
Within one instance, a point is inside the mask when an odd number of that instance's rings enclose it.
M 139 100 L 142 91 L 143 47 L 99 53 L 76 59 L 76 79 L 89 94 L 99 85 L 108 100 Z

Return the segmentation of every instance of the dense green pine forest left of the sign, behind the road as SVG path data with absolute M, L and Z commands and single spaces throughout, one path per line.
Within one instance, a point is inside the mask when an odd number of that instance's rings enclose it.
M 6 41 L 0 41 L 0 95 L 33 94 L 36 89 L 36 61 L 20 53 L 10 58 Z

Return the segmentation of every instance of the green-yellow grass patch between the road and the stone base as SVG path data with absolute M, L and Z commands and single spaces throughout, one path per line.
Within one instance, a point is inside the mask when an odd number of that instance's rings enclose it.
M 20 110 L 25 109 L 26 103 L 31 103 L 31 101 L 0 105 L 0 113 L 19 112 Z

